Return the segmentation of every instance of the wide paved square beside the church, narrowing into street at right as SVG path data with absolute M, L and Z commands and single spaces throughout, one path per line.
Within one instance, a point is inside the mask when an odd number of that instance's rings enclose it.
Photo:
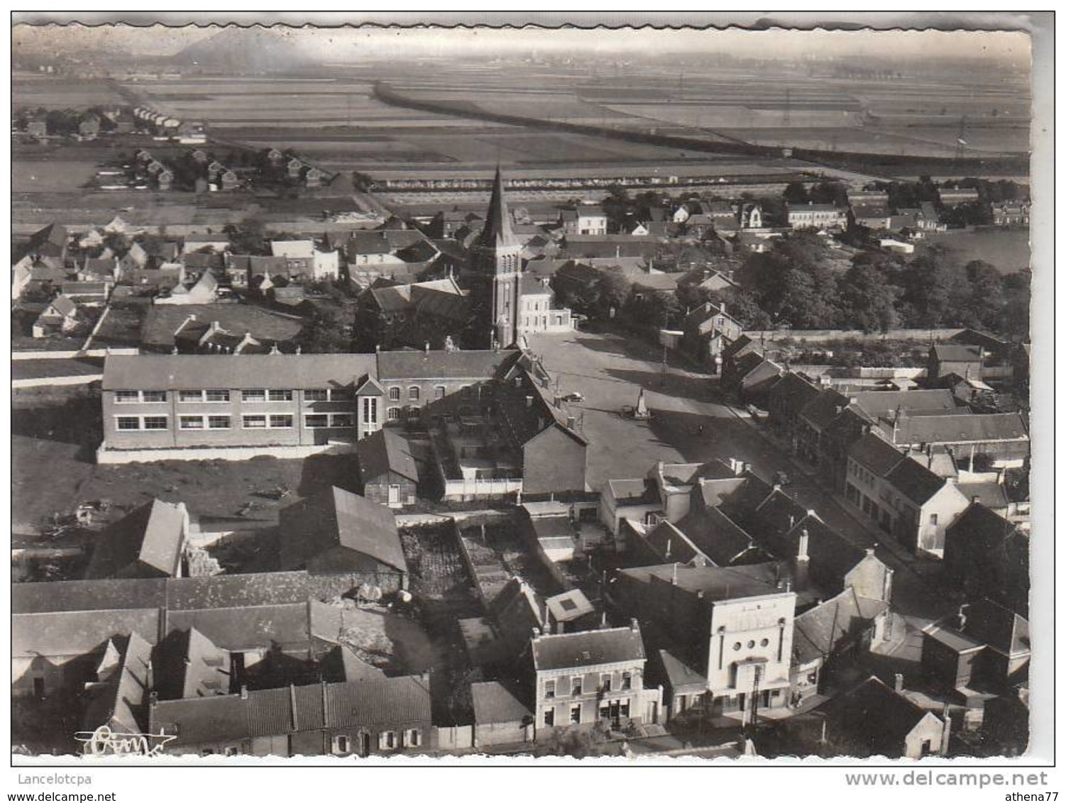
M 884 534 L 852 517 L 837 496 L 808 476 L 809 469 L 771 442 L 746 413 L 725 403 L 716 379 L 674 356 L 664 374 L 661 349 L 610 332 L 540 334 L 529 340 L 559 378 L 560 391 L 584 396 L 583 404 L 569 406 L 569 413 L 591 441 L 588 482 L 593 489 L 599 490 L 611 478 L 643 476 L 657 460 L 704 462 L 733 457 L 750 463 L 766 479 L 784 471 L 792 479 L 787 493 L 818 511 L 853 543 L 877 544 L 877 556 L 895 570 L 893 603 L 908 617 L 909 626 L 922 626 L 953 609 L 953 602 L 937 586 L 935 563 L 886 543 Z M 641 388 L 652 412 L 650 422 L 619 414 L 623 406 L 636 404 Z

